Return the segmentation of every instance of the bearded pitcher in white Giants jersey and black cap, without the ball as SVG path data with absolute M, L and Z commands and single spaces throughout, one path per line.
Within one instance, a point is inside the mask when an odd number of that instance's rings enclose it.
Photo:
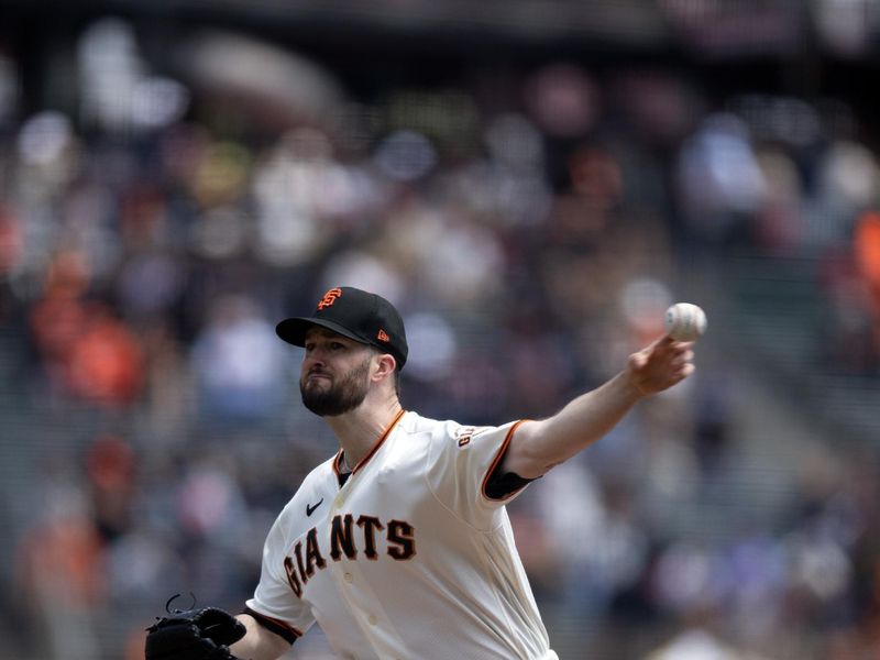
M 339 451 L 270 530 L 244 612 L 174 612 L 147 659 L 274 659 L 316 623 L 341 658 L 556 659 L 505 505 L 691 374 L 692 343 L 658 339 L 547 419 L 473 427 L 403 408 L 404 323 L 377 295 L 330 289 L 276 331 L 305 348 L 302 403 Z

